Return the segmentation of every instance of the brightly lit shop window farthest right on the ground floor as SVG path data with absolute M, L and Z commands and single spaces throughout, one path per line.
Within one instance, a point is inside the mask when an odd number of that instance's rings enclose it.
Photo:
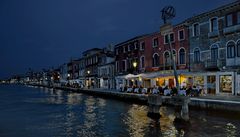
M 220 92 L 232 93 L 232 76 L 222 75 L 220 76 Z

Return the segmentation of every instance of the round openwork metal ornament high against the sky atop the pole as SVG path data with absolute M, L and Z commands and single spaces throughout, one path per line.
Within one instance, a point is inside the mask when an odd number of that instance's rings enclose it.
M 176 11 L 173 6 L 166 6 L 162 9 L 162 19 L 164 24 L 167 23 L 167 20 L 170 20 L 176 16 Z

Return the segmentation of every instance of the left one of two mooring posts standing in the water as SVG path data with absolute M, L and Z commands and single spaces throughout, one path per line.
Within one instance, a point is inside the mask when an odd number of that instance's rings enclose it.
M 160 107 L 162 105 L 162 97 L 155 94 L 148 95 L 148 105 L 148 117 L 159 120 L 161 116 Z

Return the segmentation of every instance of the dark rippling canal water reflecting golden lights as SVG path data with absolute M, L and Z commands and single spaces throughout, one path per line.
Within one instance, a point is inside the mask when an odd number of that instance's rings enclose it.
M 174 122 L 162 107 L 160 123 L 147 106 L 80 93 L 0 85 L 0 137 L 239 137 L 236 114 L 190 110 L 189 123 Z

